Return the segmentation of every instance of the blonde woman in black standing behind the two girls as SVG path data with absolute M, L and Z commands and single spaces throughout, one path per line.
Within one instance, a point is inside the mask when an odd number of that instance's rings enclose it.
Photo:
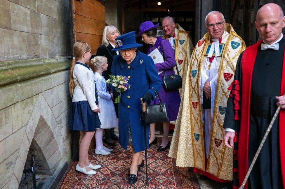
M 105 80 L 109 79 L 109 75 L 111 74 L 113 57 L 119 54 L 119 51 L 112 51 L 112 49 L 115 48 L 116 38 L 120 35 L 118 29 L 114 26 L 106 26 L 103 31 L 102 45 L 98 47 L 96 56 L 105 56 L 107 58 L 108 67 L 102 73 Z M 118 105 L 114 104 L 114 106 L 118 117 Z M 110 146 L 115 146 L 114 140 L 118 140 L 119 137 L 114 134 L 114 128 L 104 130 L 106 134 L 104 142 Z

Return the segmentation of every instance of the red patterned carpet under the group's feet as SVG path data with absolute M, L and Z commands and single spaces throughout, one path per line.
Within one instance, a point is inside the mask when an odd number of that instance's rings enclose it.
M 171 138 L 170 138 L 171 139 Z M 158 138 L 158 144 L 161 138 Z M 110 146 L 106 146 L 110 147 Z M 176 167 L 175 159 L 167 156 L 168 150 L 156 151 L 157 145 L 152 145 L 147 150 L 149 186 L 145 185 L 145 166 L 138 174 L 138 182 L 129 185 L 127 177 L 131 165 L 131 147 L 124 150 L 119 144 L 114 146 L 114 151 L 108 156 L 96 155 L 94 149 L 89 151 L 89 159 L 93 164 L 102 167 L 95 175 L 85 175 L 75 172 L 77 162 L 71 161 L 67 172 L 57 186 L 57 189 L 118 189 L 118 188 L 158 188 L 158 189 L 199 189 L 199 183 L 191 169 Z

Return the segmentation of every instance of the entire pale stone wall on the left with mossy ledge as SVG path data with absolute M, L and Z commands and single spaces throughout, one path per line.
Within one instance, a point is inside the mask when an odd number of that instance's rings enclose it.
M 0 1 L 0 188 L 18 188 L 32 141 L 48 188 L 71 159 L 69 1 Z

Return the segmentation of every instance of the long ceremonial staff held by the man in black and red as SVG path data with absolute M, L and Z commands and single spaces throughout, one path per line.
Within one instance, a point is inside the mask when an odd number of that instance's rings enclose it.
M 284 96 L 285 96 L 285 94 L 284 94 Z M 265 134 L 264 134 L 264 136 L 263 136 L 263 139 L 262 139 L 262 141 L 260 142 L 259 147 L 258 147 L 258 149 L 257 149 L 257 151 L 256 151 L 256 153 L 255 153 L 255 156 L 254 156 L 254 158 L 253 158 L 253 160 L 252 160 L 252 162 L 251 162 L 251 164 L 250 164 L 250 167 L 249 167 L 249 169 L 248 169 L 248 172 L 246 173 L 246 176 L 244 177 L 244 181 L 241 183 L 241 186 L 239 187 L 239 189 L 243 189 L 243 188 L 244 188 L 245 183 L 246 183 L 246 181 L 247 181 L 247 179 L 248 179 L 248 177 L 249 177 L 249 174 L 250 174 L 251 171 L 252 171 L 253 165 L 255 164 L 255 162 L 256 162 L 256 160 L 257 160 L 257 157 L 258 157 L 258 155 L 259 155 L 259 153 L 260 153 L 260 151 L 261 151 L 261 148 L 262 148 L 262 146 L 263 146 L 263 144 L 264 144 L 264 142 L 265 142 L 265 140 L 266 140 L 266 138 L 267 138 L 267 136 L 268 136 L 268 134 L 269 134 L 269 132 L 270 132 L 272 126 L 273 126 L 273 123 L 274 123 L 274 121 L 275 121 L 275 119 L 276 119 L 276 117 L 277 117 L 277 115 L 278 115 L 278 113 L 279 113 L 279 111 L 280 111 L 280 108 L 281 108 L 281 105 L 277 107 L 277 109 L 276 109 L 276 111 L 275 111 L 275 113 L 274 113 L 274 116 L 273 116 L 272 120 L 270 121 L 270 124 L 269 124 L 268 128 L 266 129 L 266 132 L 265 132 Z

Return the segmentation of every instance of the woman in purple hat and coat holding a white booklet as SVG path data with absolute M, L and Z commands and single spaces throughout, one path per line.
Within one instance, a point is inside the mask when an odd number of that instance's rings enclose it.
M 140 33 L 136 34 L 136 36 L 142 36 L 142 41 L 149 45 L 147 54 L 150 54 L 156 48 L 162 54 L 164 62 L 155 64 L 157 72 L 161 72 L 159 74 L 159 78 L 162 80 L 164 71 L 166 71 L 166 76 L 175 74 L 173 68 L 175 67 L 176 62 L 174 52 L 169 41 L 162 39 L 161 37 L 156 37 L 158 26 L 159 24 L 154 25 L 151 21 L 143 22 L 140 25 Z M 166 104 L 169 121 L 176 120 L 180 106 L 180 95 L 178 89 L 166 91 L 164 87 L 161 86 L 159 96 L 161 98 L 161 103 Z M 156 98 L 153 104 L 158 103 L 158 99 Z M 170 142 L 168 140 L 169 122 L 163 122 L 162 126 L 163 138 L 157 151 L 164 151 L 170 146 Z M 157 144 L 157 137 L 155 136 L 155 124 L 150 124 L 149 144 Z

